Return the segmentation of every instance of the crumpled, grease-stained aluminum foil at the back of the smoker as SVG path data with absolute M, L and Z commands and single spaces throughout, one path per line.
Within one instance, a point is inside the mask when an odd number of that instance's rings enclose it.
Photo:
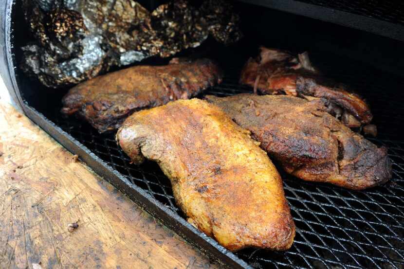
M 133 0 L 23 0 L 22 8 L 36 41 L 22 47 L 21 68 L 52 88 L 174 55 L 209 35 L 223 44 L 241 38 L 239 16 L 224 0 L 198 8 L 173 0 L 151 13 Z

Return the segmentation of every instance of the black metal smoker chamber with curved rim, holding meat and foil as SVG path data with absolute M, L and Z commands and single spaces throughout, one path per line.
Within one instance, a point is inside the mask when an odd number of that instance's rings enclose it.
M 146 7 L 157 4 L 150 1 Z M 1 75 L 32 121 L 167 227 L 229 268 L 404 268 L 404 139 L 399 131 L 404 118 L 404 4 L 241 0 L 233 5 L 244 38 L 229 46 L 207 40 L 192 52 L 209 55 L 224 71 L 223 83 L 207 94 L 250 92 L 239 85 L 239 71 L 260 45 L 309 51 L 322 72 L 366 97 L 378 127 L 371 141 L 387 146 L 393 163 L 392 179 L 366 191 L 281 174 L 296 224 L 288 251 L 227 251 L 186 222 L 157 164 L 132 165 L 113 133 L 99 134 L 83 121 L 62 117 L 61 98 L 68 89 L 46 88 L 19 68 L 20 47 L 32 38 L 19 1 L 2 0 L 0 5 Z

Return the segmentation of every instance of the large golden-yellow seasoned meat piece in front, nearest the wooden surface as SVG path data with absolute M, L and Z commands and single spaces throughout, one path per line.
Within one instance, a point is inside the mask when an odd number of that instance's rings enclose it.
M 156 161 L 188 221 L 225 248 L 291 247 L 295 226 L 275 166 L 220 108 L 192 99 L 138 111 L 116 139 L 134 163 Z

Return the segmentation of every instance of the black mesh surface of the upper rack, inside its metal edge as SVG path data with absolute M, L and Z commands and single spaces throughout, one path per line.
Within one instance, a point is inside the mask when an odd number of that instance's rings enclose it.
M 404 24 L 404 2 L 397 0 L 298 0 L 370 18 Z

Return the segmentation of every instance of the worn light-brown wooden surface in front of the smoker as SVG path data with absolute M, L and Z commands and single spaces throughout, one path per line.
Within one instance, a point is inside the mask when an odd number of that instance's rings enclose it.
M 1 103 L 0 155 L 0 269 L 219 268 Z

